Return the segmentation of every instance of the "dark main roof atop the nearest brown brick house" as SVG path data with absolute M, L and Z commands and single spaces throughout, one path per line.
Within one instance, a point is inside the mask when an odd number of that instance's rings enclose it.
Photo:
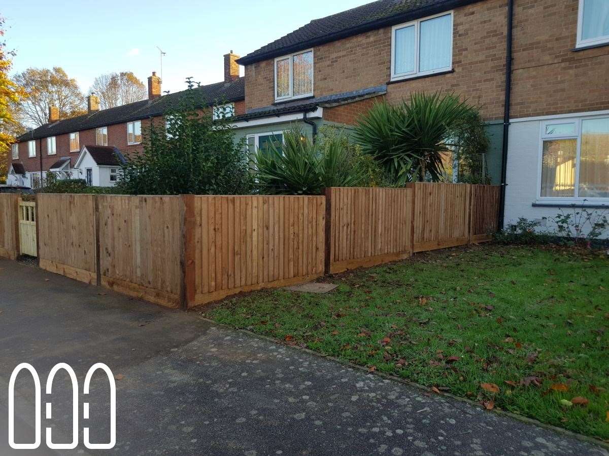
M 314 19 L 272 43 L 241 57 L 245 65 L 319 46 L 380 27 L 431 16 L 481 0 L 378 0 L 322 19 Z

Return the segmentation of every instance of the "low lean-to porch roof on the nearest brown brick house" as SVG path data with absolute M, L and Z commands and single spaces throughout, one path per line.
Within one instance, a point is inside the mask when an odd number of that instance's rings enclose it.
M 264 117 L 284 116 L 286 114 L 294 114 L 295 112 L 312 112 L 317 108 L 325 108 L 347 103 L 357 102 L 365 98 L 377 97 L 387 92 L 387 86 L 376 86 L 367 89 L 359 89 L 351 92 L 343 92 L 341 94 L 325 95 L 317 98 L 305 98 L 295 102 L 284 103 L 281 105 L 265 106 L 264 108 L 256 108 L 248 111 L 241 116 L 234 118 L 234 122 L 241 122 L 253 119 L 262 119 Z

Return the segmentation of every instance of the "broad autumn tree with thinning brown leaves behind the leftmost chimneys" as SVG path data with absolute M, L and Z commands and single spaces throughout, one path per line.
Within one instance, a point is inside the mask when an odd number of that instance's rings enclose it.
M 49 106 L 57 106 L 59 119 L 80 116 L 86 112 L 85 97 L 76 79 L 68 77 L 62 67 L 28 68 L 15 75 L 15 83 L 23 86 L 27 98 L 19 106 L 24 123 L 35 126 L 48 122 Z

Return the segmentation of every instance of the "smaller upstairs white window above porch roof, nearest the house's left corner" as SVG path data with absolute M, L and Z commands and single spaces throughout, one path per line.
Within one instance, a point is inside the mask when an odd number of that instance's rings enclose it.
M 313 50 L 275 59 L 275 101 L 313 95 Z

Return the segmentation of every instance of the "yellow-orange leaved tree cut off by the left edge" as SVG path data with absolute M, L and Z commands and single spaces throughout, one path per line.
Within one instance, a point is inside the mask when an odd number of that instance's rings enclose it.
M 4 36 L 4 18 L 0 16 L 0 40 Z M 4 181 L 7 171 L 7 154 L 10 144 L 19 133 L 19 124 L 16 121 L 15 108 L 20 98 L 26 94 L 22 87 L 9 78 L 12 64 L 11 57 L 15 52 L 5 50 L 6 44 L 0 41 L 0 181 Z

